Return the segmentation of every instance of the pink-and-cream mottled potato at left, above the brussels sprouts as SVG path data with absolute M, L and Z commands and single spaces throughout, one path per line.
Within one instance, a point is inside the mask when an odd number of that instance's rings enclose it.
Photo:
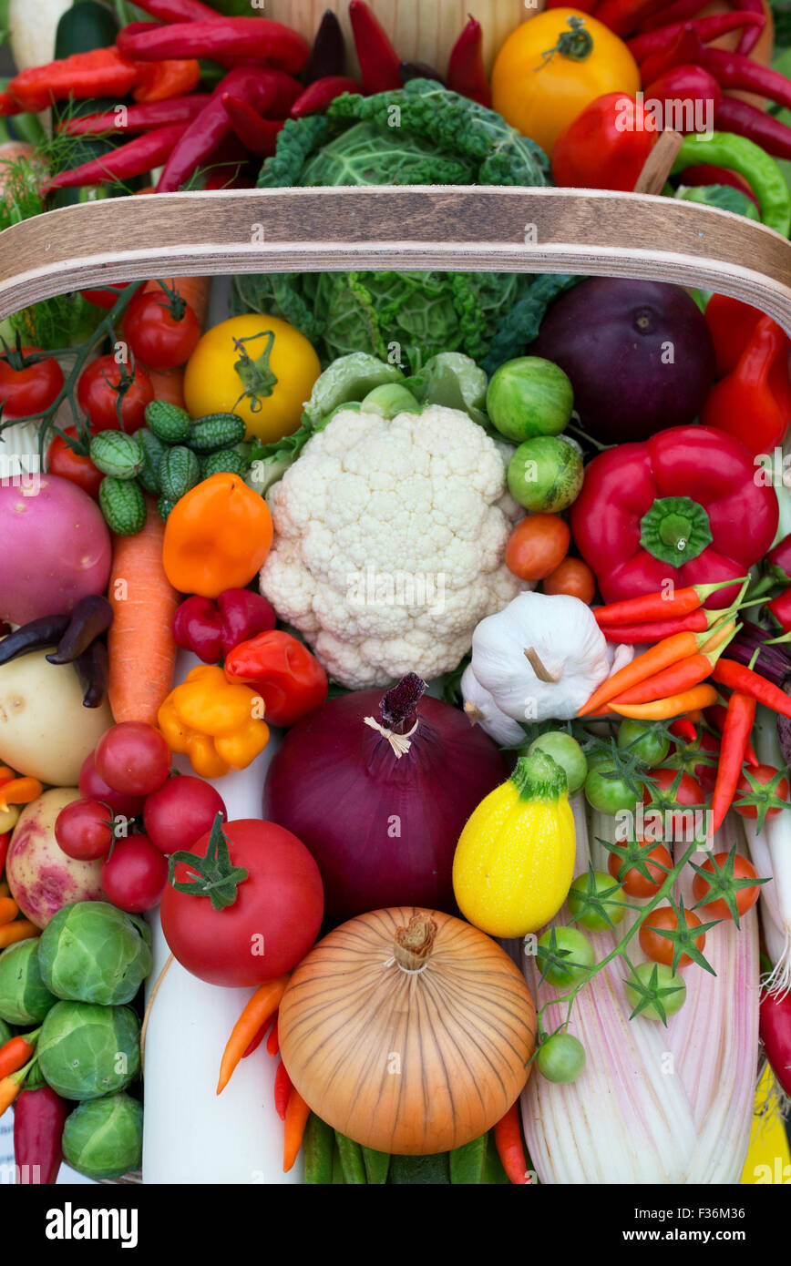
M 80 862 L 60 847 L 55 822 L 77 787 L 52 787 L 23 809 L 11 836 L 5 875 L 11 895 L 27 919 L 46 928 L 53 914 L 71 901 L 103 901 L 101 858 Z

